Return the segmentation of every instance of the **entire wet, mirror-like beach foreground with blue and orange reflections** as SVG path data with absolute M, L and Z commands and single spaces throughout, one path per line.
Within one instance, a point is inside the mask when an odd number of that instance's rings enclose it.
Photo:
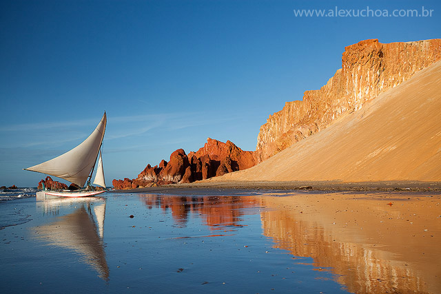
M 3 203 L 0 290 L 441 292 L 440 192 L 260 187 Z

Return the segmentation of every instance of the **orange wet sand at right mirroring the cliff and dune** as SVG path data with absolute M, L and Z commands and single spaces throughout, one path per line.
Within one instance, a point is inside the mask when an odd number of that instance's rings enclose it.
M 440 293 L 439 193 L 302 193 L 260 198 L 265 235 L 311 256 L 355 293 Z

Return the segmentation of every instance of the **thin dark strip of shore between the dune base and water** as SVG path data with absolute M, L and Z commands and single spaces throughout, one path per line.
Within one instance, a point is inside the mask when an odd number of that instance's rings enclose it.
M 174 193 L 181 191 L 214 190 L 283 190 L 283 191 L 337 191 L 337 192 L 441 192 L 441 182 L 384 181 L 384 182 L 339 182 L 339 181 L 218 181 L 204 180 L 189 184 L 172 184 L 158 187 L 144 187 L 125 190 L 112 190 L 110 193 Z

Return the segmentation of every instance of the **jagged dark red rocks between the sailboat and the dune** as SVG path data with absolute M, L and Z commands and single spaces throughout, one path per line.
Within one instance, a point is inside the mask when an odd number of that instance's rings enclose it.
M 256 162 L 254 151 L 243 151 L 229 140 L 223 143 L 208 138 L 204 147 L 196 152 L 187 155 L 183 149 L 177 149 L 170 155 L 169 162 L 162 160 L 155 167 L 147 165 L 137 178 L 115 179 L 112 185 L 115 189 L 135 189 L 194 182 L 247 169 L 256 165 Z

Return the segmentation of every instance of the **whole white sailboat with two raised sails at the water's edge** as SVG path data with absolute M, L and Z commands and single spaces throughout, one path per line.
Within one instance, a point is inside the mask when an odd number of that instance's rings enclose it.
M 54 197 L 95 196 L 106 191 L 95 191 L 94 187 L 90 185 L 90 179 L 92 178 L 92 174 L 94 172 L 96 159 L 98 159 L 98 167 L 96 168 L 96 175 L 93 183 L 105 189 L 101 146 L 103 145 L 106 124 L 107 116 L 104 112 L 103 118 L 101 118 L 99 124 L 94 129 L 94 132 L 92 132 L 92 134 L 90 134 L 90 136 L 88 136 L 83 143 L 66 152 L 65 154 L 61 154 L 56 158 L 25 169 L 27 171 L 37 171 L 42 174 L 56 176 L 79 185 L 79 187 L 85 186 L 83 189 L 74 191 L 48 191 L 43 188 L 43 191 L 37 192 L 37 200 Z M 87 185 L 85 185 L 86 182 Z

